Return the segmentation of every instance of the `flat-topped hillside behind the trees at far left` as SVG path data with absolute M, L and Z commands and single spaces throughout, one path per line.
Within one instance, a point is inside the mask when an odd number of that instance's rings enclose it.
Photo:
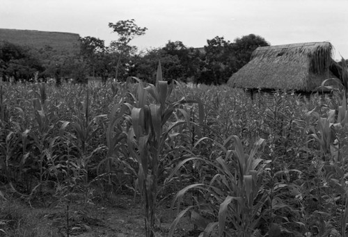
M 52 51 L 58 54 L 74 54 L 79 51 L 79 34 L 76 33 L 0 28 L 0 43 L 6 41 L 38 50 L 52 47 Z

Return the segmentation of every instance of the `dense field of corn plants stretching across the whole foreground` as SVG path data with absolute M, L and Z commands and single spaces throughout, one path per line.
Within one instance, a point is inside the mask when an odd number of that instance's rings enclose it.
M 72 236 L 73 203 L 128 193 L 141 197 L 143 236 L 161 236 L 165 202 L 166 236 L 184 217 L 196 236 L 346 236 L 347 123 L 340 92 L 252 101 L 164 81 L 161 67 L 155 85 L 1 83 L 0 234 L 16 236 L 11 199 L 56 199 Z

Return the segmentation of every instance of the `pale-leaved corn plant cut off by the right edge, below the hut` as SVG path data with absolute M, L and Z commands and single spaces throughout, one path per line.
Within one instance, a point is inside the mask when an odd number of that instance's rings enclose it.
M 344 95 L 345 97 L 345 95 Z M 335 120 L 335 111 L 329 110 L 327 117 L 322 117 L 315 111 L 310 111 L 317 118 L 317 126 L 312 127 L 310 134 L 317 143 L 319 143 L 319 156 L 313 161 L 316 169 L 315 179 L 319 179 L 315 185 L 317 190 L 317 199 L 319 201 L 319 218 L 326 213 L 330 217 L 327 222 L 331 222 L 331 229 L 335 227 L 340 229 L 342 236 L 346 234 L 347 226 L 347 191 L 346 184 L 347 164 L 347 107 L 340 106 L 337 120 Z M 339 136 L 343 135 L 343 136 Z M 340 204 L 338 204 L 340 200 Z M 338 211 L 342 209 L 342 211 Z M 325 220 L 324 219 L 324 220 Z M 317 227 L 319 229 L 319 227 Z

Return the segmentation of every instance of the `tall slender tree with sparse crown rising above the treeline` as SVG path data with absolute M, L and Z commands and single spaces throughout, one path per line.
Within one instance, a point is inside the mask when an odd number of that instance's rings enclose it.
M 118 33 L 119 38 L 116 41 L 111 42 L 111 47 L 118 49 L 118 60 L 116 63 L 116 79 L 118 78 L 118 69 L 120 67 L 121 58 L 124 54 L 132 51 L 132 47 L 129 47 L 129 42 L 136 36 L 145 35 L 146 27 L 139 27 L 135 23 L 134 19 L 121 20 L 116 24 L 109 23 L 109 27 L 113 28 L 113 32 Z

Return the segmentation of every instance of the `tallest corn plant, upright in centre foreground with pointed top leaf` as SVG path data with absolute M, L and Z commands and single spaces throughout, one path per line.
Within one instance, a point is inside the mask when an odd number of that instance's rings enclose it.
M 127 131 L 128 152 L 129 156 L 138 164 L 136 177 L 143 198 L 145 234 L 150 237 L 154 236 L 157 184 L 159 167 L 163 161 L 161 156 L 165 155 L 163 154 L 165 142 L 175 127 L 186 126 L 190 123 L 189 115 L 186 111 L 180 110 L 180 105 L 196 101 L 187 100 L 185 97 L 178 101 L 169 101 L 174 85 L 168 85 L 168 81 L 163 81 L 160 63 L 157 69 L 156 85 L 145 86 L 141 80 L 135 77 L 132 79 L 138 82 L 136 93 L 128 94 L 134 102 L 119 103 L 114 109 L 120 109 L 118 116 L 123 117 L 123 120 L 118 122 L 130 122 L 124 126 Z M 200 121 L 203 121 L 201 104 L 199 108 Z M 175 111 L 180 111 L 184 120 L 174 120 L 172 115 Z M 122 139 L 122 135 L 115 136 L 114 141 L 119 139 Z

